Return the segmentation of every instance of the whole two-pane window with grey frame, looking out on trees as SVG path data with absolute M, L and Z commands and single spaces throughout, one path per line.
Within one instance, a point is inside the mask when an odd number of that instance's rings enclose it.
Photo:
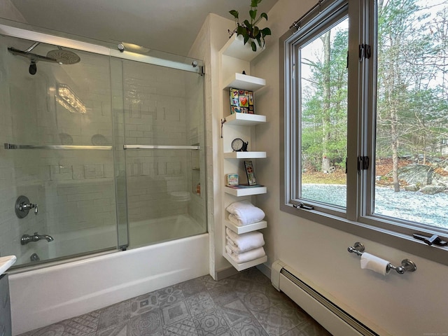
M 448 240 L 448 0 L 319 1 L 295 26 L 281 38 L 281 209 Z

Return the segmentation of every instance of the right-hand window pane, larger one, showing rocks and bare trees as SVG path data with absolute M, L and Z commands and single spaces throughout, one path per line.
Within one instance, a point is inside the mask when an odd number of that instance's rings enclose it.
M 372 214 L 448 228 L 448 2 L 377 12 Z

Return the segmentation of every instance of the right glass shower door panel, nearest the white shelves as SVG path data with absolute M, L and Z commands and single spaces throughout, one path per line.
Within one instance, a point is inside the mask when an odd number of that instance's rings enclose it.
M 198 73 L 123 61 L 130 247 L 207 231 L 203 90 Z

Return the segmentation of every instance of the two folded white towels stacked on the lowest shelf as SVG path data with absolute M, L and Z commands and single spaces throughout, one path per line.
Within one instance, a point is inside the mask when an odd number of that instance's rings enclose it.
M 266 255 L 265 239 L 261 232 L 253 231 L 238 235 L 229 228 L 225 228 L 225 251 L 238 264 L 248 262 Z

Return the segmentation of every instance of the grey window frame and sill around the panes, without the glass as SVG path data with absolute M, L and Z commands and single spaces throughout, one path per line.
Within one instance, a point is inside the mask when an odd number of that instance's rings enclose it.
M 423 258 L 448 265 L 448 247 L 428 246 L 414 239 L 414 233 L 420 235 L 439 235 L 448 240 L 448 230 L 428 228 L 425 225 L 409 223 L 399 219 L 391 220 L 370 215 L 372 209 L 372 186 L 374 186 L 374 135 L 376 102 L 376 1 L 370 0 L 327 0 L 325 6 L 310 11 L 297 27 L 291 27 L 280 38 L 280 209 L 288 214 L 306 218 L 316 223 L 328 225 L 344 232 L 363 237 L 381 244 L 407 251 Z M 325 207 L 312 204 L 314 209 L 297 207 L 300 201 L 294 200 L 300 182 L 295 172 L 300 172 L 300 120 L 297 117 L 297 76 L 295 53 L 297 41 L 304 41 L 309 34 L 317 34 L 331 27 L 344 15 L 349 15 L 349 94 L 348 94 L 348 130 L 347 132 L 347 199 L 346 211 L 337 207 Z M 328 21 L 329 20 L 329 21 Z M 330 23 L 327 23 L 330 22 Z M 317 33 L 316 33 L 317 32 Z M 370 45 L 370 59 L 359 59 L 359 45 Z M 368 156 L 370 167 L 358 172 L 358 157 Z M 363 194 L 364 193 L 364 194 Z M 370 204 L 370 205 L 369 205 Z M 354 242 L 354 241 L 353 241 Z

